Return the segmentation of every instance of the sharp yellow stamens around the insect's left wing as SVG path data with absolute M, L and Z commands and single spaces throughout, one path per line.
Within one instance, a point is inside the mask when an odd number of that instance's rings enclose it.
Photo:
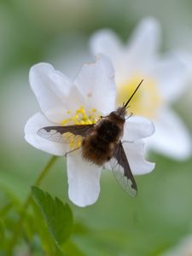
M 84 106 L 78 108 L 74 113 L 70 110 L 67 111 L 67 119 L 61 121 L 61 125 L 91 125 L 96 124 L 96 121 L 100 119 L 100 114 L 96 108 L 84 109 Z M 63 134 L 65 140 L 69 143 L 70 148 L 79 148 L 82 142 L 81 136 L 74 136 L 73 133 L 67 132 Z

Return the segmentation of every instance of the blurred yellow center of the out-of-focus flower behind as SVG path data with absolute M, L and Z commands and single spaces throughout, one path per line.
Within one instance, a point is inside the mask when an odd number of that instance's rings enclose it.
M 127 102 L 134 90 L 136 90 L 140 80 L 138 76 L 133 76 L 131 79 L 118 84 L 118 106 L 121 106 L 123 102 Z M 137 115 L 154 119 L 162 102 L 160 91 L 153 79 L 144 78 L 143 80 L 143 84 L 131 99 L 129 110 Z

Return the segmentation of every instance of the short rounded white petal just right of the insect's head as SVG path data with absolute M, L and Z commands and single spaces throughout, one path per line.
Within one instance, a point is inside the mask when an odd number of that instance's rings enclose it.
M 138 139 L 149 137 L 154 133 L 154 124 L 143 117 L 133 116 L 126 119 L 122 142 L 135 142 Z

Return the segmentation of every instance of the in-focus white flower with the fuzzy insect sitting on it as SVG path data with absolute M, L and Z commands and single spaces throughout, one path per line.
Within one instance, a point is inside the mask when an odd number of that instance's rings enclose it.
M 111 62 L 99 55 L 95 62 L 86 63 L 73 81 L 47 63 L 32 67 L 29 79 L 41 112 L 26 123 L 26 141 L 49 154 L 63 155 L 74 147 L 38 137 L 38 130 L 49 125 L 90 124 L 100 115 L 115 108 L 116 90 Z M 82 118 L 83 117 L 83 118 Z M 143 158 L 143 137 L 154 132 L 148 119 L 131 117 L 125 123 L 122 141 L 133 174 L 144 174 L 154 169 L 154 164 Z M 126 144 L 126 146 L 125 146 Z M 79 207 L 93 204 L 100 192 L 102 166 L 84 161 L 79 150 L 67 154 L 68 194 Z

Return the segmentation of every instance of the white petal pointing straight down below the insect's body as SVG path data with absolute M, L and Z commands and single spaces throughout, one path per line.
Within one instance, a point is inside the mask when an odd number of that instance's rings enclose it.
M 78 151 L 67 155 L 68 195 L 79 207 L 96 202 L 100 192 L 101 167 L 82 159 Z

